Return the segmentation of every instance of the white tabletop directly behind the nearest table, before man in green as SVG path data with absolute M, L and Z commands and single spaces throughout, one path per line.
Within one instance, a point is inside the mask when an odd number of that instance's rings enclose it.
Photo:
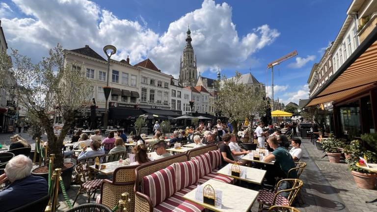
M 266 175 L 266 170 L 251 168 L 247 166 L 240 166 L 246 169 L 246 179 L 245 179 L 245 178 L 241 178 L 237 176 L 232 176 L 231 171 L 230 171 L 232 165 L 233 164 L 228 163 L 222 169 L 218 170 L 217 173 L 234 178 L 234 179 L 239 179 L 239 180 L 246 181 L 249 183 L 262 185 L 263 179 L 265 178 L 265 175 Z

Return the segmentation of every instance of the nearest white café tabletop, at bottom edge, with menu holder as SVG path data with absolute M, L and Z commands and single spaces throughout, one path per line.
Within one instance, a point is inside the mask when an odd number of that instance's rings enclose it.
M 259 194 L 259 191 L 223 183 L 212 179 L 202 184 L 202 186 L 208 184 L 211 185 L 215 190 L 222 191 L 221 209 L 195 200 L 195 192 L 197 188 L 188 192 L 183 196 L 183 198 L 215 212 L 248 212 Z

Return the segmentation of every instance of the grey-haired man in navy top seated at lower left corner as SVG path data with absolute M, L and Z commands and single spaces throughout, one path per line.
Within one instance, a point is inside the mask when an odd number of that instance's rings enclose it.
M 9 160 L 0 175 L 0 184 L 10 181 L 0 192 L 1 211 L 10 211 L 48 195 L 48 185 L 44 178 L 31 175 L 33 162 L 24 155 Z

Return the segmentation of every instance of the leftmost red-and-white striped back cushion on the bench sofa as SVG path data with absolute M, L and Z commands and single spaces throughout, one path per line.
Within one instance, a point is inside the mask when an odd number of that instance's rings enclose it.
M 143 177 L 143 193 L 151 198 L 152 206 L 160 204 L 176 191 L 176 176 L 173 165 Z

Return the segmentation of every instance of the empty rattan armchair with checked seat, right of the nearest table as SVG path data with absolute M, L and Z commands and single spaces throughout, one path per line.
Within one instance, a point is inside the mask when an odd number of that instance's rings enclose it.
M 283 182 L 290 183 L 292 188 L 279 190 L 279 185 Z M 295 200 L 298 191 L 301 189 L 303 182 L 298 179 L 283 179 L 276 184 L 275 190 L 273 192 L 268 190 L 260 190 L 257 201 L 259 203 L 258 212 L 263 211 L 263 206 L 291 206 L 292 202 Z M 282 196 L 280 193 L 288 193 L 287 197 Z

